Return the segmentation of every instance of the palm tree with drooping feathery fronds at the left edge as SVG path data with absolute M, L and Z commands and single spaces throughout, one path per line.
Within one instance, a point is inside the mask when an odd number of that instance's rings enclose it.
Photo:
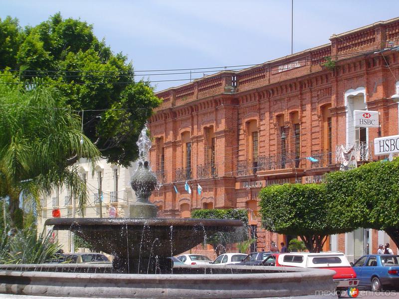
M 69 187 L 83 211 L 86 185 L 71 161 L 86 157 L 94 166 L 99 151 L 58 90 L 38 80 L 0 84 L 0 111 L 0 197 L 9 196 L 11 225 L 21 227 L 21 192 L 40 208 L 41 196 Z

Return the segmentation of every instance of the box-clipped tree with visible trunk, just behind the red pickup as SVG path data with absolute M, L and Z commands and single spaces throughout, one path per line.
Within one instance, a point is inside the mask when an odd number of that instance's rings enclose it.
M 259 197 L 264 228 L 298 235 L 309 252 L 320 252 L 328 235 L 352 228 L 340 229 L 330 221 L 335 210 L 329 206 L 324 184 L 274 185 L 263 188 Z

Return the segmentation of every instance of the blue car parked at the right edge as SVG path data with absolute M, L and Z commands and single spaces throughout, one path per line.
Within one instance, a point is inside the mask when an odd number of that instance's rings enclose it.
M 366 255 L 353 265 L 359 285 L 380 291 L 385 286 L 399 286 L 398 255 Z

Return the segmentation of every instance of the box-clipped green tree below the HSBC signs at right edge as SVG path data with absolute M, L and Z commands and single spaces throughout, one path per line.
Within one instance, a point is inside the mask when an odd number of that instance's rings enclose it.
M 326 188 L 337 225 L 384 230 L 399 247 L 398 158 L 330 173 Z

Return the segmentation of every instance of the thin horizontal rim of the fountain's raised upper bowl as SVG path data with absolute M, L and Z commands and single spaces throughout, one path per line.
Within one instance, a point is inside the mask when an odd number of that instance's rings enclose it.
M 110 225 L 110 226 L 229 226 L 240 227 L 241 220 L 195 218 L 49 218 L 44 225 Z

